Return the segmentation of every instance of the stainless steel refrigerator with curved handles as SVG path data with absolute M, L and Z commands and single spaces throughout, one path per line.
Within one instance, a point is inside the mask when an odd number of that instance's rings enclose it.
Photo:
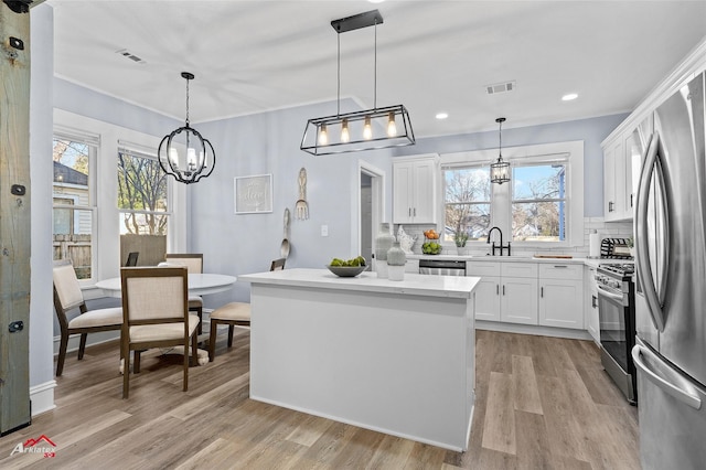
M 644 469 L 706 468 L 706 137 L 700 74 L 653 114 L 635 210 Z

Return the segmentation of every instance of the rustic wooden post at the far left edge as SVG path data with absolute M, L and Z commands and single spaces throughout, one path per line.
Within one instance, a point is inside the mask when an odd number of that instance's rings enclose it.
M 4 2 L 0 90 L 0 435 L 6 435 L 30 424 L 31 408 L 30 14 Z

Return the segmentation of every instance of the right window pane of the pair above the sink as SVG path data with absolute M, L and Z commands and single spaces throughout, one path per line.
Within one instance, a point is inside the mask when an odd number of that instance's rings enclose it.
M 566 164 L 525 164 L 512 169 L 512 239 L 566 239 Z

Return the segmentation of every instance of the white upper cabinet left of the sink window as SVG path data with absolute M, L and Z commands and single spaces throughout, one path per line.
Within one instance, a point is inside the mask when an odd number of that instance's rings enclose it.
M 393 160 L 393 222 L 436 224 L 439 157 L 427 154 Z

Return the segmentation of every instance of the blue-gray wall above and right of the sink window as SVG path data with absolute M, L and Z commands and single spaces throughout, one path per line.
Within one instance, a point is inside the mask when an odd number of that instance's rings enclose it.
M 414 116 L 413 116 L 414 117 Z M 542 126 L 503 128 L 503 148 L 538 143 L 584 141 L 584 216 L 603 216 L 603 153 L 600 142 L 628 114 L 580 119 Z M 453 153 L 498 148 L 498 130 L 417 139 L 414 147 L 402 147 L 395 156 Z

